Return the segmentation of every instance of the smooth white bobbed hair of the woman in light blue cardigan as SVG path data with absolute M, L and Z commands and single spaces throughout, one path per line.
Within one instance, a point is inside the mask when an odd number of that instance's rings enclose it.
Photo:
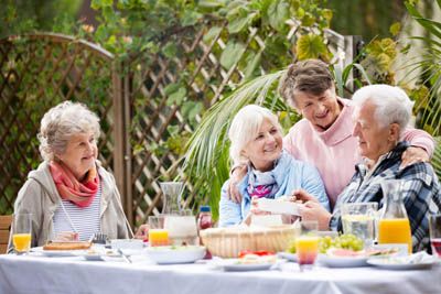
M 236 113 L 228 131 L 228 138 L 232 142 L 229 146 L 229 156 L 234 164 L 249 163 L 249 160 L 244 156 L 243 151 L 259 133 L 259 129 L 266 119 L 269 120 L 279 132 L 282 132 L 277 116 L 265 107 L 248 105 Z

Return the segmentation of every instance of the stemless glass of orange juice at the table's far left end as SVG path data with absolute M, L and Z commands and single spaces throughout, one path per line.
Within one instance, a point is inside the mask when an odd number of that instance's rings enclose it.
M 17 254 L 25 254 L 31 249 L 31 214 L 14 214 L 12 222 L 12 244 Z

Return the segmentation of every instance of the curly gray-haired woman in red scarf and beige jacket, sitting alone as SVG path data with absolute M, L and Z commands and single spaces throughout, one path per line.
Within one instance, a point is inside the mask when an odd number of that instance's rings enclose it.
M 99 118 L 82 104 L 65 101 L 44 115 L 39 133 L 44 161 L 29 173 L 14 205 L 15 214 L 32 214 L 32 247 L 88 240 L 98 231 L 129 237 L 115 178 L 97 161 L 99 133 Z

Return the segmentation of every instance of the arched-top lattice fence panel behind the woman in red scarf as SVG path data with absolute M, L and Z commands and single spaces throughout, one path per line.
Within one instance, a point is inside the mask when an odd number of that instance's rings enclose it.
M 0 214 L 12 213 L 29 171 L 41 162 L 36 134 L 49 108 L 80 101 L 101 120 L 99 160 L 115 164 L 114 56 L 85 41 L 32 34 L 0 41 Z

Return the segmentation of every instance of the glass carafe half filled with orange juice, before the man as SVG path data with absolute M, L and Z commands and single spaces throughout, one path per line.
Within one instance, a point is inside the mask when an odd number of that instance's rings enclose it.
M 412 253 L 412 235 L 406 207 L 401 197 L 404 181 L 387 179 L 381 182 L 385 207 L 378 221 L 378 243 L 406 244 Z

